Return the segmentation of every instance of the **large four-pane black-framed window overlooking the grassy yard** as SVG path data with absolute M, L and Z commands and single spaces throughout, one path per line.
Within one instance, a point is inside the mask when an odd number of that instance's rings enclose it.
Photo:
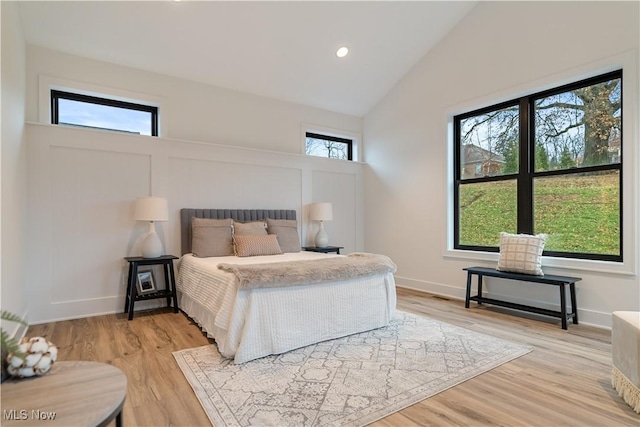
M 454 117 L 454 247 L 622 261 L 622 70 Z

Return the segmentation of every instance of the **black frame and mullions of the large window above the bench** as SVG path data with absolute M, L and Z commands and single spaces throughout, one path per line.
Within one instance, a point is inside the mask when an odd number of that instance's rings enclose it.
M 597 260 L 597 261 L 613 261 L 623 262 L 623 240 L 624 240 L 624 221 L 623 221 L 623 126 L 622 126 L 622 114 L 620 116 L 620 160 L 618 163 L 610 163 L 606 165 L 597 166 L 584 166 L 579 168 L 558 169 L 549 171 L 535 171 L 535 101 L 540 98 L 568 92 L 581 87 L 595 85 L 612 79 L 620 79 L 621 95 L 620 95 L 620 110 L 623 110 L 622 99 L 622 87 L 623 87 L 623 70 L 615 70 L 598 76 L 594 76 L 588 79 L 583 79 L 577 82 L 565 84 L 559 87 L 548 89 L 545 91 L 533 93 L 530 95 L 515 98 L 506 102 L 484 107 L 478 110 L 469 111 L 463 114 L 454 116 L 453 118 L 453 143 L 454 143 L 454 186 L 453 186 L 453 212 L 454 212 L 454 228 L 453 228 L 453 247 L 457 250 L 468 250 L 478 252 L 499 252 L 500 248 L 497 246 L 476 246 L 476 245 L 462 245 L 460 244 L 460 186 L 465 184 L 483 183 L 483 182 L 497 182 L 497 181 L 516 181 L 517 187 L 517 233 L 533 234 L 534 233 L 534 188 L 533 182 L 535 178 L 540 177 L 552 177 L 561 175 L 573 175 L 584 174 L 590 172 L 600 172 L 617 170 L 618 171 L 618 197 L 619 197 L 619 218 L 620 218 L 620 231 L 619 231 L 619 255 L 609 254 L 593 254 L 582 252 L 560 252 L 545 250 L 544 256 L 559 257 L 559 258 L 574 258 L 584 260 Z M 519 166 L 518 172 L 513 174 L 496 175 L 496 176 L 483 176 L 477 178 L 462 179 L 461 168 L 461 135 L 460 135 L 460 122 L 466 118 L 486 114 L 492 111 L 503 109 L 518 105 L 519 110 Z

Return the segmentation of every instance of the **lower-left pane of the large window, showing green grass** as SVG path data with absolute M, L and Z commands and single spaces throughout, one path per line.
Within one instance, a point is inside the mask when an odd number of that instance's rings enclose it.
M 500 232 L 517 230 L 516 181 L 460 185 L 460 244 L 500 246 Z

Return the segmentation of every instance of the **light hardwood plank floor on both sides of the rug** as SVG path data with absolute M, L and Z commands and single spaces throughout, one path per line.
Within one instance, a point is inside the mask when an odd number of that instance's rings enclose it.
M 611 388 L 610 333 L 398 289 L 398 309 L 529 345 L 514 361 L 432 396 L 373 426 L 640 426 Z M 127 375 L 125 426 L 210 425 L 172 352 L 210 343 L 184 314 L 137 312 L 35 325 L 59 360 L 113 364 Z

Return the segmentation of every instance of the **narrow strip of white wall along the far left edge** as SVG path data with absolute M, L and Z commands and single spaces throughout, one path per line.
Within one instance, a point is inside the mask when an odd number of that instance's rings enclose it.
M 2 309 L 26 316 L 24 217 L 27 208 L 24 139 L 26 46 L 18 6 L 2 2 L 2 210 L 0 231 Z M 10 334 L 16 324 L 3 325 Z

